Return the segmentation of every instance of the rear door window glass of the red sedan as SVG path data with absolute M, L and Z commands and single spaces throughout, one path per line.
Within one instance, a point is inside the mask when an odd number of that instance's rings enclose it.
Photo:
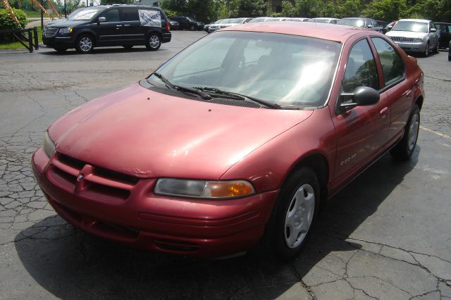
M 378 56 L 381 59 L 383 82 L 385 86 L 393 84 L 404 78 L 405 68 L 400 54 L 393 46 L 385 42 L 381 37 L 371 37 Z

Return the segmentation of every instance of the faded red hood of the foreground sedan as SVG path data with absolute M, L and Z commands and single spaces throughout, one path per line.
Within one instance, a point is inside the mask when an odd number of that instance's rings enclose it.
M 56 151 L 92 165 L 214 180 L 312 113 L 211 104 L 135 84 L 75 108 L 48 131 Z

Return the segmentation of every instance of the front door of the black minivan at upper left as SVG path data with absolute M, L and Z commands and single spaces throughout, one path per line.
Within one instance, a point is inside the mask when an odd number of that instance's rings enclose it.
M 97 44 L 99 45 L 113 45 L 122 39 L 122 24 L 119 16 L 118 8 L 110 8 L 99 15 L 99 18 L 104 17 L 105 22 L 97 24 Z

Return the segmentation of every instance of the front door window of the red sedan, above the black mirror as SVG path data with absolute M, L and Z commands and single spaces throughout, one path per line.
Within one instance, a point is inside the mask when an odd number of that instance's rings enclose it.
M 379 89 L 376 61 L 366 39 L 355 43 L 347 58 L 343 91 L 351 93 L 356 87 Z

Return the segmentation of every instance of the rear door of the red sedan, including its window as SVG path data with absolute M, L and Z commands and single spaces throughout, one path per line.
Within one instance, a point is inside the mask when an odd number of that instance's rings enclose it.
M 386 39 L 371 37 L 382 68 L 383 91 L 390 107 L 388 143 L 392 144 L 402 135 L 412 106 L 412 82 L 406 80 L 406 69 L 400 54 Z

